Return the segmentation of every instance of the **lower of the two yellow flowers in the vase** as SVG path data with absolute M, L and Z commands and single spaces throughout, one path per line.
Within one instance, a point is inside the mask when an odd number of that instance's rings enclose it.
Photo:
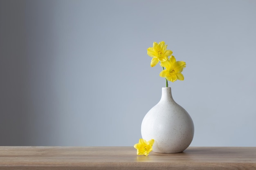
M 177 79 L 184 80 L 184 76 L 182 75 L 183 68 L 186 67 L 186 63 L 183 61 L 176 62 L 176 59 L 173 55 L 171 55 L 169 60 L 165 62 L 161 62 L 161 66 L 166 69 L 161 71 L 159 74 L 160 77 L 165 77 L 171 82 L 175 82 Z

